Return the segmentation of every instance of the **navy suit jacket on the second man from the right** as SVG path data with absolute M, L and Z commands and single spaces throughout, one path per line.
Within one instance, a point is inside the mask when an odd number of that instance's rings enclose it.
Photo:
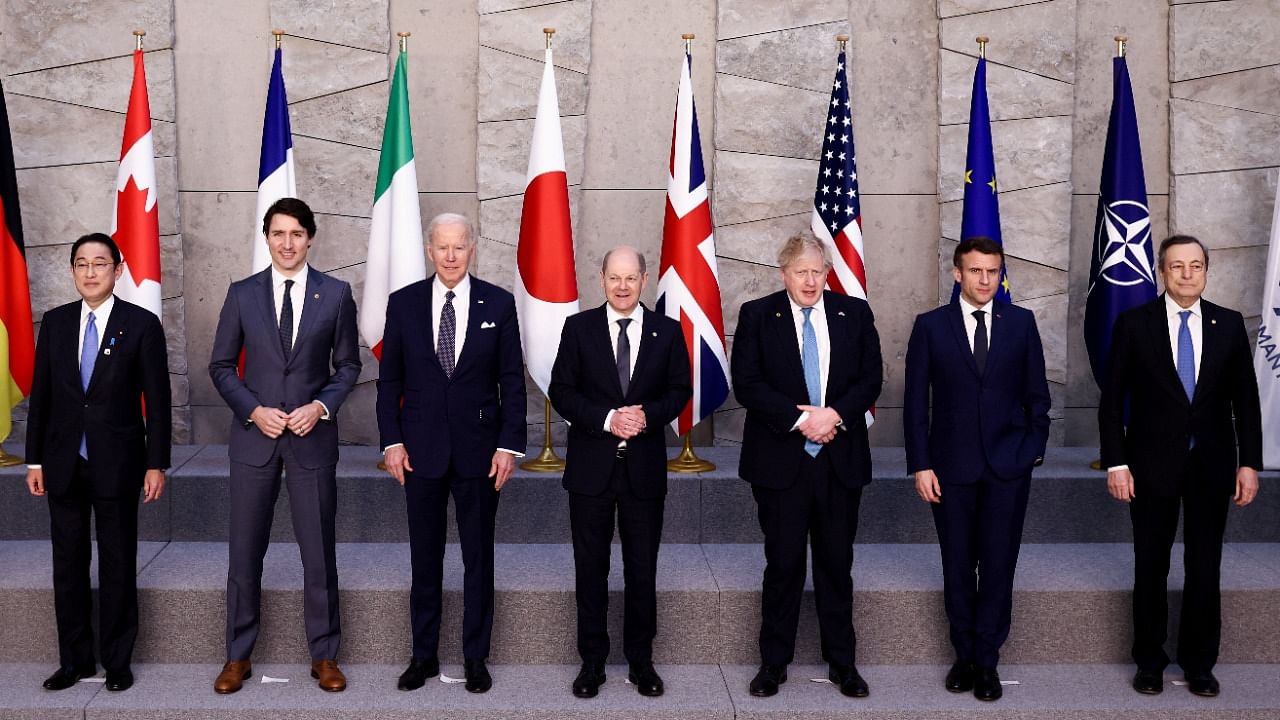
M 959 301 L 915 318 L 902 398 L 909 473 L 932 469 L 942 484 L 969 484 L 989 468 L 1016 480 L 1044 457 L 1050 395 L 1036 315 L 996 301 L 988 347 L 979 375 Z

